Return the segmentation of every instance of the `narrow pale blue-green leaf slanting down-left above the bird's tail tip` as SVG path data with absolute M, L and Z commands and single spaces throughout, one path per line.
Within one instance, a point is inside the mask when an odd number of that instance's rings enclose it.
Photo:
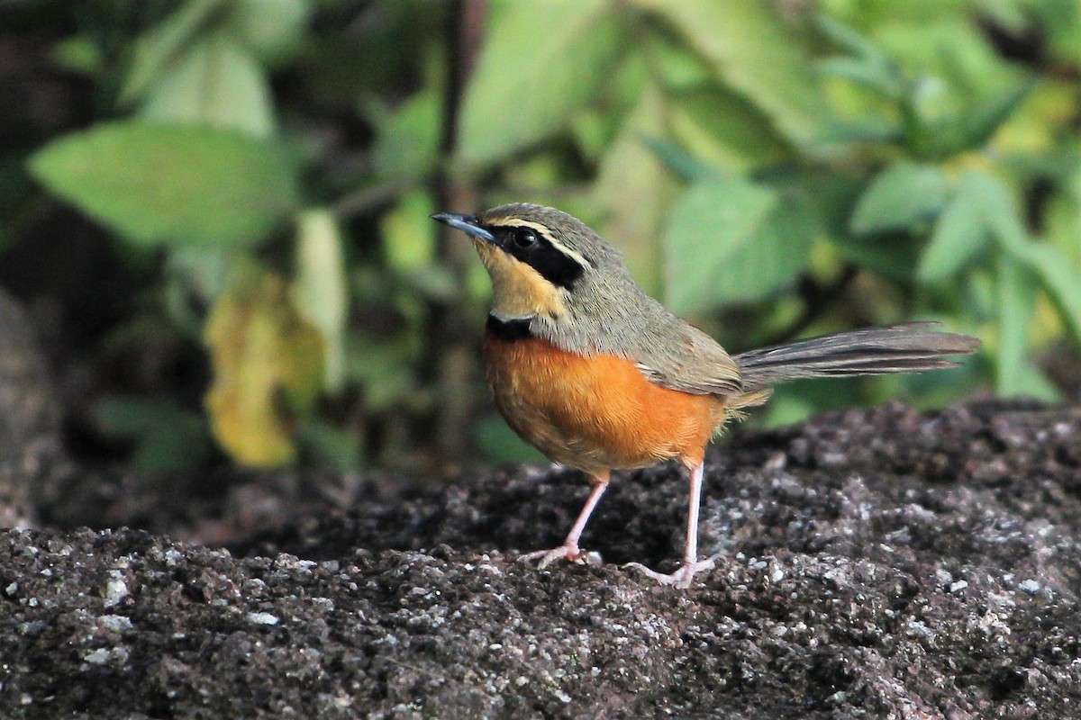
M 920 258 L 917 270 L 920 280 L 934 283 L 949 277 L 984 247 L 989 235 L 986 189 L 986 176 L 977 173 L 962 176 Z

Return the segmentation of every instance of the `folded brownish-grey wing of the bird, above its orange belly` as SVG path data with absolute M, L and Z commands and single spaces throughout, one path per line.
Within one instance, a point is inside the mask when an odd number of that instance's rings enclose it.
M 676 320 L 676 318 L 673 318 Z M 675 338 L 675 341 L 673 341 Z M 677 321 L 662 342 L 646 342 L 638 368 L 650 382 L 695 395 L 738 395 L 739 367 L 711 337 Z

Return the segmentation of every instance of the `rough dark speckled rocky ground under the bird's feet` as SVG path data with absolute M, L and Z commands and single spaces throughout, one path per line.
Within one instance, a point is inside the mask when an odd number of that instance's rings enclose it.
M 675 467 L 613 483 L 602 565 L 538 571 L 573 473 L 90 470 L 13 337 L 0 518 L 36 529 L 0 531 L 0 718 L 1081 718 L 1081 409 L 738 435 L 680 590 L 620 567 L 675 568 Z

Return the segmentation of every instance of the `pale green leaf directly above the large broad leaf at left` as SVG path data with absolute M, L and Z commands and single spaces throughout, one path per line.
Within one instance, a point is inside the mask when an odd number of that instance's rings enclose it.
M 231 127 L 259 138 L 275 130 L 263 68 L 224 32 L 197 41 L 154 85 L 141 114 Z

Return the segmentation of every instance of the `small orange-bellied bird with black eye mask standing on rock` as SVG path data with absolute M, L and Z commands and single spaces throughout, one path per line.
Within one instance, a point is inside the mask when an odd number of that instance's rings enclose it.
M 633 568 L 689 587 L 698 558 L 706 446 L 732 419 L 798 378 L 913 372 L 957 365 L 979 340 L 903 323 L 836 332 L 737 355 L 679 318 L 631 277 L 624 256 L 577 218 L 511 203 L 430 216 L 468 235 L 492 282 L 483 363 L 499 413 L 552 461 L 584 472 L 588 499 L 561 545 L 528 553 L 539 567 L 582 561 L 582 533 L 613 471 L 682 464 L 690 502 L 680 567 Z

